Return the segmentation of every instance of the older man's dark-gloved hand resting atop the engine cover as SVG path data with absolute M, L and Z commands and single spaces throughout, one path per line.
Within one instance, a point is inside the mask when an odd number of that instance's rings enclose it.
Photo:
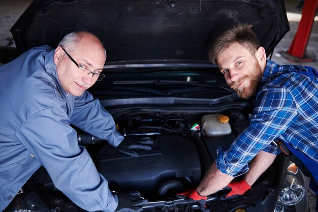
M 132 138 L 125 137 L 117 146 L 119 152 L 137 158 L 138 153 L 132 149 L 151 149 L 153 141 L 149 137 Z

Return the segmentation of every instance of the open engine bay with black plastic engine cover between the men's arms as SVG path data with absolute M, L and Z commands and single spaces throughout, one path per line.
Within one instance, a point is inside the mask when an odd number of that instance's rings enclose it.
M 202 123 L 206 115 L 144 112 L 114 115 L 122 134 L 136 139 L 148 137 L 153 141 L 152 148 L 136 150 L 139 157 L 132 158 L 103 142 L 101 147 L 94 147 L 97 150 L 91 152 L 92 158 L 111 190 L 136 190 L 148 198 L 174 197 L 178 192 L 196 187 L 215 160 L 217 147 L 229 146 L 248 124 L 246 114 L 235 110 L 226 115 L 212 114 L 209 126 Z M 214 117 L 220 115 L 228 117 L 229 122 L 219 123 Z M 225 127 L 231 131 L 222 131 Z M 211 130 L 216 133 L 208 136 Z M 98 142 L 83 132 L 79 135 L 82 142 L 85 139 L 86 143 L 88 140 Z

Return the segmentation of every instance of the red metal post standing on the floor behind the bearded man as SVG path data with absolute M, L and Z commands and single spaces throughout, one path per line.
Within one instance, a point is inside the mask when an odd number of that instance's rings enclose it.
M 291 58 L 293 58 L 292 62 L 295 60 L 298 62 L 312 62 L 314 60 L 314 58 L 304 58 L 304 56 L 311 33 L 312 24 L 314 22 L 317 5 L 318 0 L 305 0 L 304 2 L 297 33 L 289 50 L 287 51 L 287 54 L 292 56 L 287 59 L 291 60 Z

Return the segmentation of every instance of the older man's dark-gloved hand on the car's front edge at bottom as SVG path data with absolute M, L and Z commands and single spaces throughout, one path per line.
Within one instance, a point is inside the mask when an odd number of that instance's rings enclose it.
M 142 211 L 142 205 L 148 200 L 141 197 L 138 191 L 129 193 L 114 193 L 118 197 L 118 206 L 115 212 L 139 212 Z

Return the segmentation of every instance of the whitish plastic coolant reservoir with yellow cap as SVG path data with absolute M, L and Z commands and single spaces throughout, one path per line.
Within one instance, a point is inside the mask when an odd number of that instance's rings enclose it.
M 204 115 L 201 118 L 202 127 L 207 136 L 228 135 L 232 132 L 229 117 L 220 114 Z

